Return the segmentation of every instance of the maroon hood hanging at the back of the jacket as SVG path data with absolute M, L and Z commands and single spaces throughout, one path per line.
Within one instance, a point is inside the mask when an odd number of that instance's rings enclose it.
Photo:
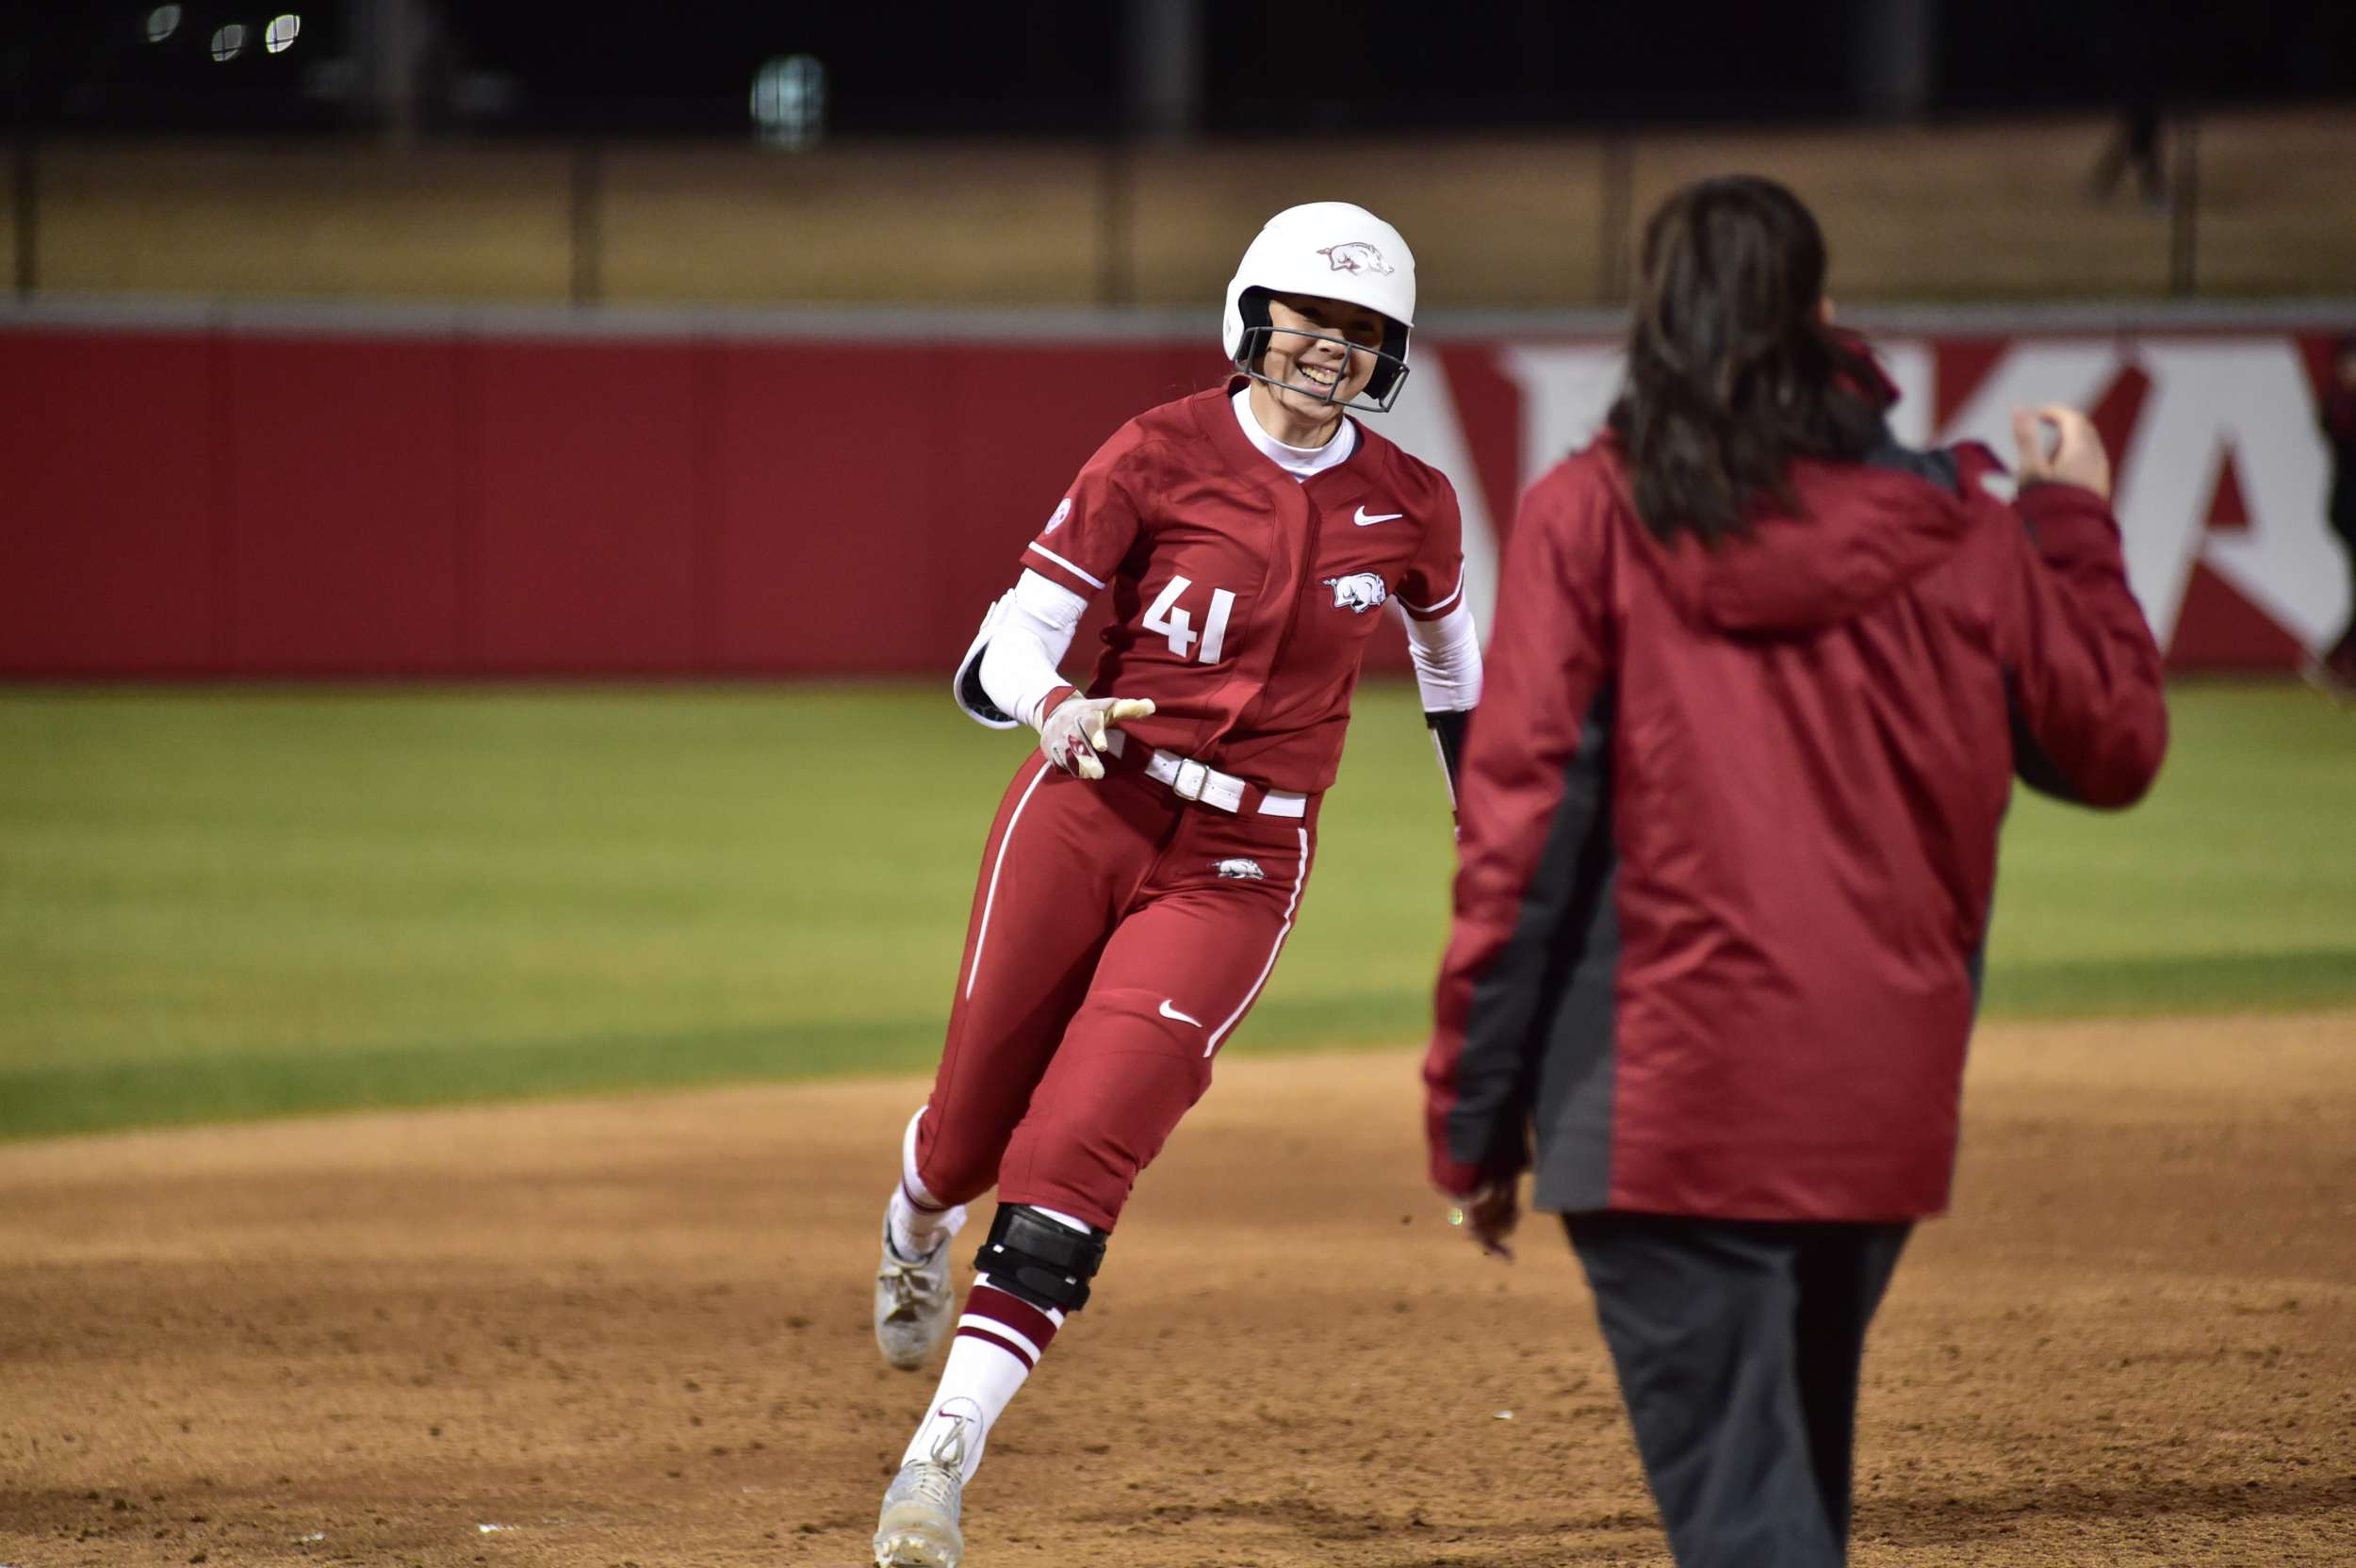
M 1637 532 L 1689 622 L 1748 636 L 1814 631 L 1864 614 L 1953 556 L 1981 516 L 1979 485 L 1967 480 L 1996 466 L 1986 450 L 1802 459 L 1791 466 L 1798 506 L 1760 504 L 1746 539 L 1710 551 L 1694 537 L 1661 546 Z

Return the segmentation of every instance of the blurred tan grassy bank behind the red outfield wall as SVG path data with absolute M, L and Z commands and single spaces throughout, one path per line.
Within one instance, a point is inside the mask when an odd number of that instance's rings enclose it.
M 384 144 L 24 137 L 19 294 L 570 304 L 1185 306 L 1301 200 L 1381 207 L 1432 308 L 1626 299 L 1677 184 L 1800 191 L 1854 301 L 2347 294 L 2356 113 L 2177 115 L 2168 184 L 2099 193 L 2099 115 L 1324 141 Z

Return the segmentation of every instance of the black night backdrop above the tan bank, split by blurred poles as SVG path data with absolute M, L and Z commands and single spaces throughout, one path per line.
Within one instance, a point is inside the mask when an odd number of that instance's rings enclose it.
M 1670 5 L 1586 0 L 1202 0 L 1209 132 L 1437 132 L 1859 113 L 1854 33 L 1882 0 Z M 144 42 L 151 5 L 0 0 L 14 115 L 92 129 L 332 129 L 323 82 L 351 0 L 186 0 Z M 259 35 L 304 14 L 294 49 L 214 64 L 226 21 Z M 429 122 L 476 134 L 742 134 L 752 73 L 827 66 L 834 134 L 1105 137 L 1121 127 L 1114 0 L 754 2 L 436 0 L 445 21 Z M 448 82 L 499 92 L 452 101 Z M 2347 99 L 2347 0 L 1944 0 L 1934 115 L 2177 101 Z

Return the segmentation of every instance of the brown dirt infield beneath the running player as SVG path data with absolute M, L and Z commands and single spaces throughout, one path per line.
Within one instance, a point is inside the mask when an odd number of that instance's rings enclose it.
M 919 1083 L 0 1149 L 0 1563 L 839 1563 Z M 2356 1554 L 2356 1015 L 1981 1034 L 1875 1330 L 1859 1563 Z M 997 1563 L 1663 1563 L 1550 1222 L 1407 1055 L 1235 1059 L 968 1495 Z M 964 1250 L 964 1245 L 961 1245 Z

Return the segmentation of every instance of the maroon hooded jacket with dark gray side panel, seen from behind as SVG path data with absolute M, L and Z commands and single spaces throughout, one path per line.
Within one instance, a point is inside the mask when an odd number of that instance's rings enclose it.
M 1604 438 L 1505 551 L 1432 1177 L 1543 1210 L 1915 1220 L 1948 1201 L 2014 772 L 2127 805 L 2160 650 L 2090 490 L 1979 445 L 1800 461 L 1748 539 L 1659 544 Z

